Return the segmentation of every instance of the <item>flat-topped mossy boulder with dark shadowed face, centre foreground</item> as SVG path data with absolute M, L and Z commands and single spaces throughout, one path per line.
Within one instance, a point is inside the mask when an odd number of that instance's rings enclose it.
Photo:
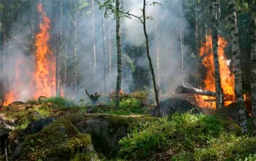
M 131 129 L 140 123 L 157 118 L 149 115 L 72 114 L 61 119 L 72 122 L 79 132 L 89 133 L 95 150 L 99 150 L 107 157 L 113 157 L 120 149 L 118 141 Z

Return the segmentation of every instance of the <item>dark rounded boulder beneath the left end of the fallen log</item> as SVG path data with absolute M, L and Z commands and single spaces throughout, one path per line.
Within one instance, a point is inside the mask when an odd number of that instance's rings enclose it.
M 181 99 L 181 98 L 167 98 L 166 100 L 160 102 L 160 111 L 161 116 L 172 115 L 173 113 L 201 113 L 200 108 L 195 107 L 189 101 Z M 151 115 L 157 116 L 156 108 L 154 108 L 151 112 Z

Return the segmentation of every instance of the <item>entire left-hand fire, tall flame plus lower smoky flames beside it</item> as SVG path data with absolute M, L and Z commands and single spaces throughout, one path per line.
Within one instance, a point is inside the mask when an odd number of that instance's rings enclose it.
M 17 60 L 14 70 L 15 78 L 9 87 L 9 92 L 5 95 L 4 105 L 20 100 L 23 97 L 23 90 L 15 88 L 17 86 L 23 86 L 24 89 L 28 89 L 30 98 L 37 99 L 41 95 L 46 97 L 55 95 L 55 55 L 49 48 L 51 37 L 49 33 L 51 29 L 50 19 L 42 9 L 41 4 L 38 4 L 38 13 L 41 14 L 42 20 L 41 24 L 39 24 L 40 32 L 35 35 L 35 71 L 22 70 L 24 68 L 27 69 L 28 65 L 26 62 Z M 24 79 L 20 79 L 21 77 L 30 79 L 24 81 Z

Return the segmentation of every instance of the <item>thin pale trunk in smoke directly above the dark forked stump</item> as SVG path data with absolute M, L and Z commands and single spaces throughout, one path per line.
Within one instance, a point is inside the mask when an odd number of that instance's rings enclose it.
M 95 44 L 95 17 L 94 17 L 94 0 L 92 0 L 92 14 L 93 14 L 93 89 L 95 88 L 95 74 L 96 74 L 96 44 Z

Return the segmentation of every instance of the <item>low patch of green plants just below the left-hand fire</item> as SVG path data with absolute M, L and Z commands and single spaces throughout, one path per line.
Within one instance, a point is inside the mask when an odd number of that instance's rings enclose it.
M 68 100 L 63 97 L 51 97 L 47 98 L 46 100 L 42 100 L 42 103 L 53 103 L 54 107 L 61 108 L 61 109 L 69 109 L 76 107 L 76 104 L 72 100 Z

